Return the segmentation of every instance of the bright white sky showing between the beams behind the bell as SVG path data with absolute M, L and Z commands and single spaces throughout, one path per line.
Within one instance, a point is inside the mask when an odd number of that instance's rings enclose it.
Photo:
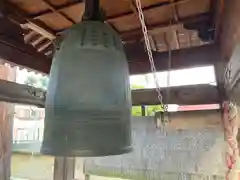
M 26 69 L 17 70 L 17 83 L 23 84 L 28 74 Z M 42 76 L 41 74 L 36 74 Z M 167 87 L 168 72 L 158 72 L 157 79 L 160 87 Z M 143 86 L 144 88 L 155 88 L 155 81 L 151 73 L 144 75 L 130 76 L 130 84 Z M 194 84 L 216 85 L 216 78 L 213 66 L 204 66 L 170 71 L 170 86 L 183 86 Z

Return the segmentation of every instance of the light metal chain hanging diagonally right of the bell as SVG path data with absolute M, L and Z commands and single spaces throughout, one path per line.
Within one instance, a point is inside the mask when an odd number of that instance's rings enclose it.
M 160 101 L 161 107 L 163 108 L 164 111 L 167 111 L 167 106 L 165 106 L 163 104 L 163 97 L 161 94 L 161 88 L 158 82 L 158 78 L 157 78 L 157 71 L 156 71 L 156 67 L 154 64 L 154 60 L 153 60 L 153 54 L 152 54 L 152 50 L 151 50 L 151 45 L 150 45 L 150 40 L 149 40 L 149 36 L 148 36 L 148 30 L 147 30 L 147 26 L 145 23 L 145 19 L 144 19 L 144 14 L 142 11 L 142 4 L 141 4 L 141 0 L 135 0 L 136 1 L 136 6 L 138 9 L 138 16 L 139 16 L 139 20 L 142 26 L 142 31 L 143 31 L 143 35 L 144 35 L 144 40 L 145 40 L 145 45 L 147 48 L 147 53 L 148 53 L 148 57 L 149 57 L 149 62 L 150 62 L 150 66 L 151 66 L 151 71 L 153 73 L 153 77 L 154 77 L 154 81 L 156 84 L 156 91 L 158 94 L 158 100 Z

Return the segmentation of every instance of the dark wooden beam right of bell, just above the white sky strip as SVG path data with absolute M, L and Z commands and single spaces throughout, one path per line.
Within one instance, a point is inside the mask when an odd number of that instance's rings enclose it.
M 129 61 L 130 74 L 144 74 L 150 72 L 150 63 L 147 53 L 141 44 L 125 46 Z M 168 69 L 168 53 L 153 52 L 157 71 Z M 220 51 L 216 45 L 205 45 L 189 49 L 172 51 L 171 69 L 182 69 L 197 66 L 213 65 L 220 59 Z

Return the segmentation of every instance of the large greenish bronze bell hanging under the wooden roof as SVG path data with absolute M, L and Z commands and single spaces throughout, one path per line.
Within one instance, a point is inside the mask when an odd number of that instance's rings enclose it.
M 55 53 L 46 97 L 43 154 L 107 156 L 131 151 L 129 71 L 119 35 L 84 21 Z

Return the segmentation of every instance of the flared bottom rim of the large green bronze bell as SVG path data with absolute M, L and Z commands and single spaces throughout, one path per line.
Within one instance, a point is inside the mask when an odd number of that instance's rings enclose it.
M 55 151 L 51 148 L 41 147 L 41 154 L 61 157 L 100 157 L 114 156 L 130 153 L 133 150 L 132 146 L 114 149 L 98 149 L 98 150 L 69 150 Z

